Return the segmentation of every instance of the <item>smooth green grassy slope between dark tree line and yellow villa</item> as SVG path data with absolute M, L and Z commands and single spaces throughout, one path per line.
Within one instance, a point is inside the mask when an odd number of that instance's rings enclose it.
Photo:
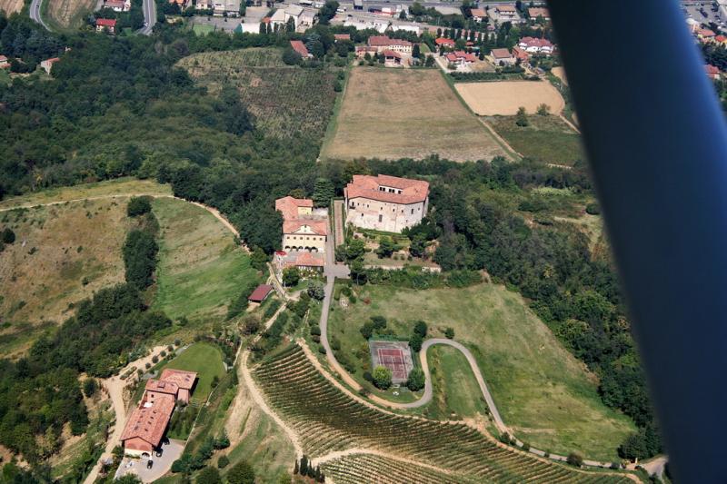
M 155 199 L 160 250 L 154 308 L 176 320 L 210 322 L 257 279 L 234 235 L 204 208 L 175 199 Z

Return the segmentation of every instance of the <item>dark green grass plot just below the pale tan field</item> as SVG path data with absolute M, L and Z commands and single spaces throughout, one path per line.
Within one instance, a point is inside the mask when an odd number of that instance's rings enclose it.
M 526 127 L 515 124 L 514 116 L 494 116 L 487 122 L 525 157 L 566 166 L 585 161 L 581 136 L 558 116 L 530 115 Z

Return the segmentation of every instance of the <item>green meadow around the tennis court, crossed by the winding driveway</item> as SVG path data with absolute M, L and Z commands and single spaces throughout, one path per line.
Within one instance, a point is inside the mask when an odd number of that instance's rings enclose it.
M 366 297 L 370 304 L 364 304 Z M 452 327 L 454 339 L 477 358 L 505 423 L 535 447 L 612 460 L 634 429 L 629 419 L 603 405 L 596 377 L 563 348 L 520 295 L 502 286 L 427 291 L 365 286 L 349 309 L 336 305 L 330 321 L 331 335 L 341 341 L 342 352 L 357 367 L 367 361 L 359 329 L 373 315 L 386 317 L 388 328 L 400 335 L 409 334 L 417 319 L 429 324 L 430 336 L 441 337 L 446 327 Z M 434 355 L 443 368 L 462 364 L 446 351 Z M 456 381 L 446 378 L 445 383 Z M 474 390 L 460 385 L 456 391 L 444 404 L 438 397 L 425 410 L 433 415 L 443 414 L 443 405 L 461 415 L 477 410 L 463 401 Z

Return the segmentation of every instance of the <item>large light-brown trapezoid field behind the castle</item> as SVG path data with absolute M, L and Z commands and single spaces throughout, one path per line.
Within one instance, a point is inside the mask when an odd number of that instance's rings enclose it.
M 508 156 L 434 70 L 355 67 L 321 158 Z

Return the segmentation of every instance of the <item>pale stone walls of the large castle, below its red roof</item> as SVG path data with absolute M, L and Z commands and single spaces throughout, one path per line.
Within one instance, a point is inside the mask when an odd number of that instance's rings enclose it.
M 366 198 L 346 200 L 346 222 L 356 227 L 385 232 L 402 232 L 421 222 L 426 215 L 429 199 L 424 202 L 401 204 L 379 202 Z

